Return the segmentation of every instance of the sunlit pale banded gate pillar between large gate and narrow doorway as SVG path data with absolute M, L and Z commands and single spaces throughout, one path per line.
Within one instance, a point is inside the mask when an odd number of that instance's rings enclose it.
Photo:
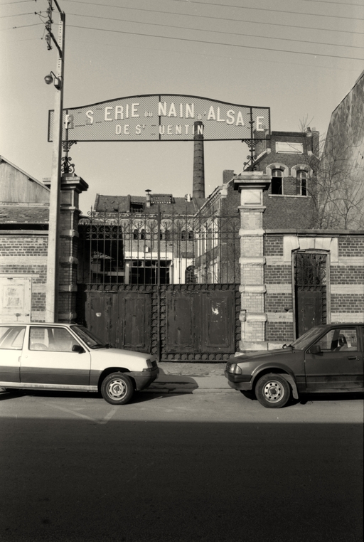
M 245 171 L 234 178 L 240 192 L 240 292 L 242 336 L 240 351 L 267 349 L 264 312 L 263 191 L 271 182 L 260 171 Z

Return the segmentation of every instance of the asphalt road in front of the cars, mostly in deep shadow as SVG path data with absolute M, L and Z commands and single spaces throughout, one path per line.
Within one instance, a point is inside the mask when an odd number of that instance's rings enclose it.
M 361 542 L 363 399 L 0 395 L 1 542 Z

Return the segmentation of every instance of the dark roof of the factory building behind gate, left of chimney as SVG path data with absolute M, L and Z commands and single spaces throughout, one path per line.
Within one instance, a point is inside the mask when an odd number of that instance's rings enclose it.
M 151 206 L 146 206 L 146 196 L 103 196 L 97 194 L 94 211 L 98 213 L 129 213 L 132 203 L 143 203 L 143 213 L 155 215 L 158 205 L 162 215 L 186 215 L 195 214 L 202 203 L 203 198 L 174 198 L 172 194 L 150 194 Z

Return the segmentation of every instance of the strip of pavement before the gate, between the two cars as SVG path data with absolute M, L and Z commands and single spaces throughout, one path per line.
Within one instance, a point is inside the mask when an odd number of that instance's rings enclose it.
M 185 363 L 161 361 L 159 376 L 146 392 L 223 393 L 233 391 L 224 376 L 225 363 Z

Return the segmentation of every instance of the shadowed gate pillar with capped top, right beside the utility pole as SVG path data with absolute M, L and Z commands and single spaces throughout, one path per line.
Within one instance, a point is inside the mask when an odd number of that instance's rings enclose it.
M 88 184 L 75 174 L 63 175 L 60 185 L 60 249 L 58 322 L 75 320 L 77 297 L 77 245 L 79 195 Z

